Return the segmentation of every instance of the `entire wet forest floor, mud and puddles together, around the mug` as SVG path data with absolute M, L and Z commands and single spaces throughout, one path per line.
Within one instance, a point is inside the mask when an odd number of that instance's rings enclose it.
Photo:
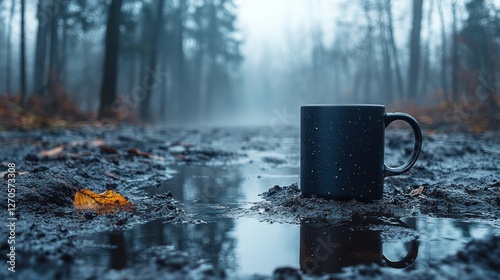
M 359 203 L 301 197 L 298 131 L 0 132 L 0 278 L 500 275 L 499 132 L 424 131 L 414 168 L 386 178 L 381 200 Z M 404 163 L 412 139 L 409 130 L 387 131 L 388 165 Z M 82 189 L 113 190 L 134 209 L 78 210 L 73 199 Z

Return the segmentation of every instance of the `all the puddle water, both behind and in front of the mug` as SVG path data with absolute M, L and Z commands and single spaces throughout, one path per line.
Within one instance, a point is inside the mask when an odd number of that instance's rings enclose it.
M 79 236 L 77 260 L 120 269 L 132 265 L 148 248 L 168 245 L 206 259 L 228 276 L 270 275 L 283 266 L 311 273 L 336 272 L 347 265 L 382 263 L 384 258 L 413 270 L 456 253 L 473 238 L 500 234 L 500 228 L 489 223 L 430 217 L 404 219 L 418 240 L 402 241 L 388 238 L 384 230 L 228 218 L 224 215 L 228 208 L 260 200 L 257 195 L 275 184 L 297 182 L 298 167 L 269 170 L 254 162 L 230 168 L 186 165 L 174 169 L 178 173 L 147 193 L 171 191 L 188 213 L 206 223 L 178 225 L 158 219 L 107 236 Z

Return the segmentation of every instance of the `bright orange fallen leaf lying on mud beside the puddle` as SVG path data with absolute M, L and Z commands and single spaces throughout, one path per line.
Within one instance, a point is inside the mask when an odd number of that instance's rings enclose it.
M 114 214 L 120 209 L 133 212 L 135 208 L 134 204 L 123 195 L 113 190 L 99 194 L 89 189 L 78 190 L 75 194 L 74 204 L 78 210 L 94 210 L 98 215 Z

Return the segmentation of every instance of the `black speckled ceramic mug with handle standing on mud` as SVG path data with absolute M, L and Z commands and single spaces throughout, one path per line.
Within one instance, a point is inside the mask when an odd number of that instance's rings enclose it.
M 304 105 L 300 108 L 300 186 L 304 197 L 371 201 L 380 199 L 384 177 L 410 170 L 422 146 L 417 121 L 386 113 L 383 105 Z M 415 144 L 408 162 L 384 164 L 385 128 L 407 122 Z

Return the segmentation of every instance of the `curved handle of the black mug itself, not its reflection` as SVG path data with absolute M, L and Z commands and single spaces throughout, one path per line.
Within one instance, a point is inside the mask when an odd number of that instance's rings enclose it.
M 384 116 L 385 128 L 395 120 L 401 120 L 408 123 L 413 130 L 413 136 L 415 137 L 415 144 L 413 145 L 413 152 L 411 153 L 410 160 L 399 167 L 389 167 L 384 163 L 384 177 L 395 176 L 410 170 L 415 162 L 417 162 L 418 156 L 420 155 L 420 149 L 422 148 L 422 131 L 418 125 L 417 120 L 412 116 L 405 113 L 386 113 Z

